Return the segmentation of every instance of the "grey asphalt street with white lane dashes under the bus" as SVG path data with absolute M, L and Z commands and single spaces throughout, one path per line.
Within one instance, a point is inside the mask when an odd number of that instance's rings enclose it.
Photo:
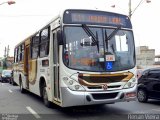
M 124 120 L 133 119 L 132 115 L 137 113 L 152 115 L 152 118 L 160 119 L 160 115 L 157 115 L 160 113 L 160 102 L 155 100 L 150 100 L 148 103 L 134 101 L 70 108 L 60 108 L 53 105 L 52 108 L 47 108 L 43 105 L 40 97 L 31 93 L 21 94 L 19 86 L 0 83 L 0 113 L 0 119 L 3 120 L 7 120 L 7 118 L 14 120 L 50 120 L 53 118 L 54 120 Z

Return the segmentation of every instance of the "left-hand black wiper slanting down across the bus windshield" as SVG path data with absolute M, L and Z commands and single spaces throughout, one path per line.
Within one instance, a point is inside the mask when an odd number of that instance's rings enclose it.
M 98 41 L 98 33 L 96 32 L 96 36 L 94 35 L 94 33 L 89 29 L 89 27 L 86 24 L 82 24 L 82 28 L 84 29 L 84 31 L 87 33 L 87 35 L 90 37 L 92 37 L 92 42 L 93 45 L 97 45 L 97 50 L 99 52 L 99 41 Z

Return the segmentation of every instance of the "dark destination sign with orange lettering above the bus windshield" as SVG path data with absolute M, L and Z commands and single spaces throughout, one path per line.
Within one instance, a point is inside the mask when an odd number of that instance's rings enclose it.
M 66 24 L 120 25 L 125 28 L 132 28 L 128 16 L 95 10 L 66 10 L 63 22 Z

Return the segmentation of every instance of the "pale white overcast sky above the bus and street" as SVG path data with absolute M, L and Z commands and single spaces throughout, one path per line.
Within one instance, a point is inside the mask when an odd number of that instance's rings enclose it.
M 131 0 L 132 11 L 141 0 Z M 0 0 L 0 4 L 6 2 Z M 0 57 L 9 45 L 9 55 L 14 55 L 14 47 L 65 8 L 97 9 L 128 15 L 129 0 L 15 0 L 15 4 L 0 5 Z M 115 7 L 111 7 L 115 5 Z M 131 17 L 136 46 L 149 46 L 160 54 L 160 0 L 142 4 Z

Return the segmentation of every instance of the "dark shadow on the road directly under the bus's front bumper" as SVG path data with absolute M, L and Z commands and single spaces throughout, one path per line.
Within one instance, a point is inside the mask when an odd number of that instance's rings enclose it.
M 68 119 L 86 119 L 86 120 L 99 120 L 99 119 L 110 119 L 110 120 L 125 120 L 127 119 L 128 111 L 117 109 L 109 104 L 107 105 L 92 105 L 92 106 L 77 106 L 61 108 L 53 105 L 54 111 L 58 111 L 60 118 Z M 56 115 L 57 117 L 58 115 Z M 119 116 L 122 116 L 119 118 Z

